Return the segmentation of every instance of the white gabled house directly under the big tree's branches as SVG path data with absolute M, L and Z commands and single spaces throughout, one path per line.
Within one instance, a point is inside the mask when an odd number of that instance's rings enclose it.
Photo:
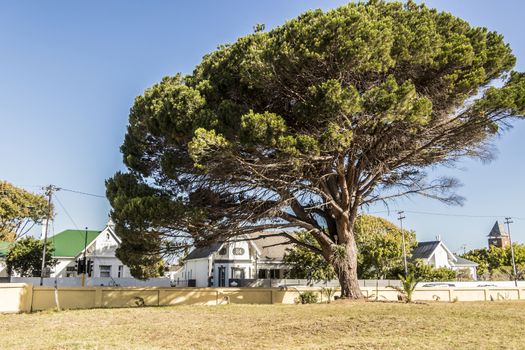
M 236 287 L 258 278 L 283 278 L 286 266 L 282 259 L 291 247 L 287 242 L 282 236 L 243 236 L 196 248 L 173 276 L 173 284 Z

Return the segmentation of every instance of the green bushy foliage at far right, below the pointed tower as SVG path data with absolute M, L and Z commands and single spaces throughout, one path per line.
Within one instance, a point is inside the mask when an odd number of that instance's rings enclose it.
M 517 279 L 525 279 L 525 245 L 513 244 L 514 260 L 516 262 Z M 479 278 L 491 280 L 514 279 L 512 254 L 510 247 L 474 249 L 462 255 L 463 258 L 478 263 Z

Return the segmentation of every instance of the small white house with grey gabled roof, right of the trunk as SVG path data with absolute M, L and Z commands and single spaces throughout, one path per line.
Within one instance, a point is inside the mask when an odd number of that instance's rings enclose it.
M 477 280 L 477 263 L 454 255 L 440 240 L 419 242 L 412 251 L 412 260 L 421 259 L 434 267 L 446 267 L 454 271 L 464 271 Z

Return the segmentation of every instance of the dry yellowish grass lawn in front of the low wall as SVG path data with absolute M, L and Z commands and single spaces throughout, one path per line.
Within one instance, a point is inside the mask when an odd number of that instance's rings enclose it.
M 0 326 L 2 349 L 525 349 L 525 302 L 48 311 Z

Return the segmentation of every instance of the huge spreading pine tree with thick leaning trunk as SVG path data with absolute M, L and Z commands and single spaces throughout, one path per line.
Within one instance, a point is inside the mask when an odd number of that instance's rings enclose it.
M 305 230 L 342 296 L 360 298 L 360 209 L 407 195 L 461 203 L 455 179 L 428 171 L 489 158 L 523 116 L 515 61 L 500 34 L 412 1 L 258 27 L 135 99 L 129 172 L 107 182 L 117 233 L 131 255 L 151 255 Z

